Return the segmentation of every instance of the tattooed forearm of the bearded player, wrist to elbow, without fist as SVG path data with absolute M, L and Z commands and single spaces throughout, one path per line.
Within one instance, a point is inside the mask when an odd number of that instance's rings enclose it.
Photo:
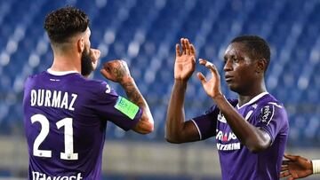
M 130 78 L 127 78 L 124 82 L 121 82 L 120 84 L 124 88 L 124 91 L 127 97 L 132 101 L 132 103 L 136 104 L 137 106 L 140 106 L 140 108 L 143 111 L 140 118 L 139 126 L 135 127 L 134 130 L 142 134 L 146 134 L 150 132 L 150 129 L 152 131 L 154 129 L 153 127 L 154 120 L 153 120 L 152 114 L 150 112 L 150 109 L 148 107 L 146 100 L 141 95 L 140 90 L 138 89 L 134 80 L 130 77 Z

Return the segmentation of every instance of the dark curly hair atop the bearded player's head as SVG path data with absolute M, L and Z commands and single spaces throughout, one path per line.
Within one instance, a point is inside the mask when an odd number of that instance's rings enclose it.
M 88 16 L 72 6 L 50 12 L 44 20 L 44 29 L 52 43 L 67 43 L 70 37 L 84 32 L 88 26 Z

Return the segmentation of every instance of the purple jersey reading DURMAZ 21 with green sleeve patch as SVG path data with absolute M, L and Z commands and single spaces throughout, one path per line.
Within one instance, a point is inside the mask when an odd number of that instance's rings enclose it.
M 76 72 L 44 71 L 25 82 L 28 179 L 101 179 L 107 121 L 129 130 L 141 109 L 107 82 Z

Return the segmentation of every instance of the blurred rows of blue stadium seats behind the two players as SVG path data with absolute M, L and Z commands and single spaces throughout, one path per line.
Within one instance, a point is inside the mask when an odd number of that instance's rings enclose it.
M 172 90 L 174 44 L 188 37 L 197 54 L 222 72 L 222 55 L 236 35 L 265 37 L 272 49 L 268 90 L 288 107 L 289 145 L 320 140 L 320 2 L 317 0 L 124 0 L 124 1 L 0 1 L 0 134 L 22 127 L 23 81 L 44 71 L 52 51 L 44 34 L 45 14 L 76 5 L 91 19 L 92 46 L 102 61 L 125 59 L 156 119 L 148 137 L 124 134 L 108 126 L 108 138 L 164 139 L 166 106 Z M 208 74 L 203 67 L 197 71 Z M 99 72 L 94 78 L 102 79 Z M 223 78 L 222 78 L 223 80 Z M 226 83 L 222 90 L 235 98 Z M 113 83 L 116 90 L 120 88 Z M 121 93 L 123 91 L 120 90 Z M 187 117 L 212 105 L 196 75 L 188 85 Z M 19 125 L 20 124 L 20 125 Z M 18 130 L 19 131 L 19 130 Z M 21 131 L 21 129 L 20 129 Z M 309 144 L 312 145 L 312 144 Z

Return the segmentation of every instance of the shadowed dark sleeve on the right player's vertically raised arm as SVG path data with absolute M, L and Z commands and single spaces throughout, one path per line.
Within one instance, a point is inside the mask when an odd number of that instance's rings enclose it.
M 217 117 L 220 110 L 217 106 L 212 106 L 203 115 L 193 118 L 196 129 L 199 132 L 200 140 L 204 140 L 216 135 Z

